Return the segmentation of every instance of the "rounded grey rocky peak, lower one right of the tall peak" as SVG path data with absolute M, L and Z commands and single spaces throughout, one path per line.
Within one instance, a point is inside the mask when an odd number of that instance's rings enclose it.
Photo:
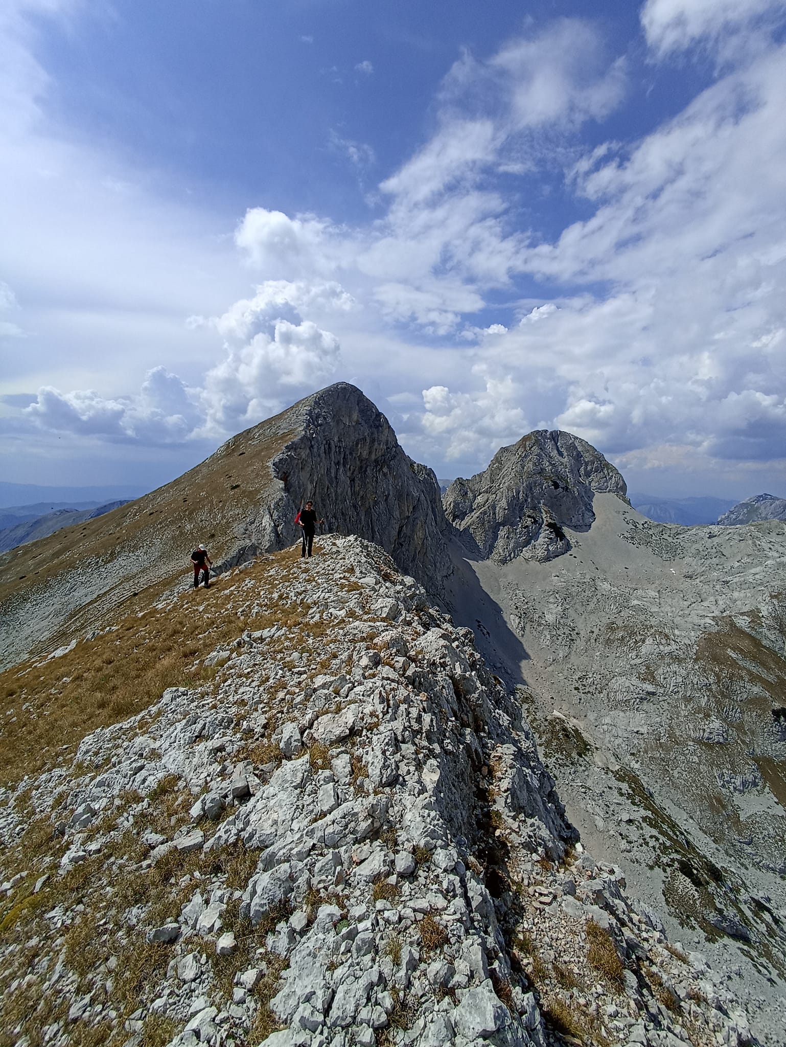
M 500 448 L 484 472 L 453 481 L 443 504 L 481 557 L 544 562 L 570 549 L 564 528 L 591 526 L 597 492 L 627 500 L 625 481 L 600 451 L 569 432 L 541 429 Z

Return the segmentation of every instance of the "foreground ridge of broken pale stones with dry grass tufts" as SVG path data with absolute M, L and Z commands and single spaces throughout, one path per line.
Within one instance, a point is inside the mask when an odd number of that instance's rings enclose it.
M 576 842 L 472 633 L 359 538 L 296 555 L 209 594 L 210 682 L 4 789 L 0 1044 L 747 1043 Z

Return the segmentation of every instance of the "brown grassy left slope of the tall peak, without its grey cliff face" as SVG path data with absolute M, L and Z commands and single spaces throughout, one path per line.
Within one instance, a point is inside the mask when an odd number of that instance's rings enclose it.
M 53 587 L 81 592 L 95 583 L 60 626 L 42 626 L 32 652 L 58 646 L 69 632 L 110 624 L 141 588 L 163 580 L 171 585 L 188 570 L 200 541 L 217 562 L 232 553 L 246 521 L 283 489 L 270 462 L 297 432 L 280 426 L 276 417 L 247 429 L 171 484 L 0 555 L 0 607 L 9 611 L 28 600 L 46 604 Z

